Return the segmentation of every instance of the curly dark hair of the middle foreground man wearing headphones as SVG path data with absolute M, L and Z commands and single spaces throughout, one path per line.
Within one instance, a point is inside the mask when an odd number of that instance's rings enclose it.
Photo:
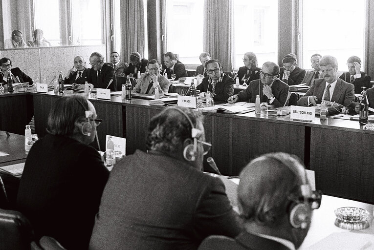
M 154 116 L 149 123 L 146 142 L 148 150 L 176 152 L 184 140 L 192 139 L 190 122 L 176 109 L 183 111 L 195 127 L 199 122 L 202 123 L 202 116 L 198 111 L 178 106 L 168 107 Z

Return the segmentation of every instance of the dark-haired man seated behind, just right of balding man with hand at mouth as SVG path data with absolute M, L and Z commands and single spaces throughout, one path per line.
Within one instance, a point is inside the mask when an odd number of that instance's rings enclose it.
M 301 69 L 297 66 L 297 58 L 294 54 L 290 53 L 287 54 L 282 59 L 283 68 L 280 71 L 280 79 L 286 82 L 284 74 L 287 76 L 287 84 L 288 85 L 296 85 L 303 82 L 305 77 L 305 69 Z

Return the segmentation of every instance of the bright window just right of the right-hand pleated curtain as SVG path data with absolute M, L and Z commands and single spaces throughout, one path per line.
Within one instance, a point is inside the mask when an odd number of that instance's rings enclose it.
M 278 0 L 233 0 L 234 69 L 243 64 L 245 52 L 257 55 L 264 62 L 278 61 Z

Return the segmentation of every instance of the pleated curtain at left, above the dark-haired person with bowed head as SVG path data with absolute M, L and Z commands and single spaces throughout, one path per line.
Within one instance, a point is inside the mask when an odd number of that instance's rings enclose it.
M 121 1 L 121 61 L 129 62 L 134 51 L 144 57 L 143 0 Z

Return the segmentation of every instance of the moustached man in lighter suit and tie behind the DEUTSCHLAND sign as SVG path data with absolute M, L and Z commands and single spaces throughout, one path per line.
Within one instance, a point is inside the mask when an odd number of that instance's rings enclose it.
M 313 86 L 302 96 L 297 104 L 308 106 L 320 104 L 323 100 L 335 102 L 346 107 L 354 102 L 354 86 L 337 78 L 338 62 L 332 56 L 324 56 L 319 62 L 323 79 L 316 79 Z

